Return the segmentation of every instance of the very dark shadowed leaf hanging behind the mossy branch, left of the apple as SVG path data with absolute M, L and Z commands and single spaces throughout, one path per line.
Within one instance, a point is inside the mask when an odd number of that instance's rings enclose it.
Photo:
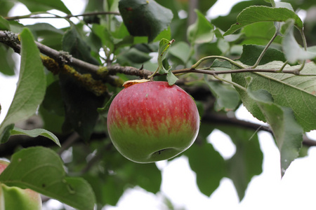
M 62 45 L 63 50 L 70 52 L 72 56 L 98 65 L 98 61 L 91 56 L 89 46 L 74 27 L 65 33 Z M 86 73 L 79 68 L 76 70 L 80 73 Z M 93 92 L 79 85 L 74 78 L 62 73 L 60 73 L 60 90 L 65 103 L 66 118 L 62 127 L 63 130 L 74 129 L 80 137 L 87 141 L 98 120 L 97 109 L 103 105 L 105 98 L 103 96 L 97 97 Z

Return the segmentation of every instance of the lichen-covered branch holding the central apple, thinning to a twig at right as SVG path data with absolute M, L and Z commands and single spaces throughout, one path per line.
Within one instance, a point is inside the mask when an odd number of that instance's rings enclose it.
M 18 34 L 13 34 L 11 31 L 0 31 L 0 42 L 4 43 L 15 52 L 20 53 L 20 40 L 18 38 Z M 148 71 L 146 69 L 137 69 L 132 66 L 119 66 L 119 65 L 113 65 L 113 66 L 97 66 L 94 64 L 90 64 L 88 62 L 84 62 L 81 59 L 77 59 L 75 57 L 72 57 L 67 52 L 54 50 L 53 48 L 49 48 L 46 45 L 43 45 L 39 42 L 35 42 L 37 44 L 37 47 L 39 48 L 39 51 L 43 53 L 44 55 L 47 55 L 48 57 L 51 57 L 55 59 L 60 66 L 63 66 L 64 64 L 68 64 L 70 66 L 74 66 L 75 68 L 81 68 L 89 73 L 93 73 L 95 75 L 100 76 L 105 80 L 106 82 L 110 83 L 114 86 L 121 85 L 122 82 L 118 82 L 119 78 L 117 76 L 114 76 L 116 73 L 124 73 L 126 75 L 132 75 L 132 76 L 139 76 L 140 78 L 148 78 L 152 74 L 151 71 Z M 207 57 L 209 58 L 216 58 L 216 57 Z M 202 62 L 204 59 L 201 59 Z M 200 63 L 200 62 L 199 62 Z M 204 74 L 210 74 L 210 75 L 218 75 L 218 74 L 224 74 L 224 73 L 242 73 L 242 72 L 270 72 L 270 73 L 291 73 L 296 74 L 300 76 L 316 76 L 316 74 L 300 74 L 299 71 L 293 71 L 293 70 L 283 70 L 279 71 L 279 69 L 234 69 L 234 70 L 228 70 L 228 71 L 213 71 L 212 69 L 206 70 L 206 69 L 195 69 L 197 65 L 193 66 L 194 68 L 188 68 L 188 69 L 178 69 L 173 70 L 172 72 L 174 74 L 179 73 L 204 73 Z M 159 74 L 157 74 L 159 75 Z

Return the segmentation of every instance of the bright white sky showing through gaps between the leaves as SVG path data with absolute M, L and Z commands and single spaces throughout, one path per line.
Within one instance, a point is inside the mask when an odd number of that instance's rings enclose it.
M 82 13 L 82 8 L 74 7 L 74 1 L 63 0 L 73 14 Z M 218 0 L 209 12 L 214 18 L 218 15 L 229 13 L 230 8 L 237 0 Z M 84 1 L 77 1 L 82 5 Z M 23 6 L 19 6 L 11 15 L 23 15 L 29 13 Z M 23 20 L 26 21 L 26 20 Z M 37 20 L 35 20 L 37 21 Z M 52 20 L 48 20 L 52 23 Z M 61 23 L 61 24 L 67 24 Z M 60 22 L 59 27 L 62 27 Z M 2 114 L 8 109 L 13 98 L 16 77 L 4 77 L 0 75 L 0 103 Z M 243 107 L 237 111 L 237 118 L 258 122 Z M 315 133 L 315 132 L 314 132 Z M 310 134 L 316 139 L 316 134 Z M 209 141 L 224 158 L 229 158 L 235 153 L 235 146 L 231 144 L 227 135 L 220 131 L 213 132 Z M 246 190 L 242 202 L 238 201 L 235 187 L 230 179 L 223 179 L 220 187 L 206 197 L 199 192 L 196 184 L 195 173 L 188 165 L 187 158 L 176 158 L 171 162 L 159 162 L 157 166 L 162 169 L 162 187 L 157 195 L 147 193 L 141 188 L 126 190 L 119 200 L 117 207 L 105 207 L 106 210 L 164 210 L 168 209 L 164 204 L 164 197 L 175 205 L 176 209 L 202 210 L 202 209 L 315 209 L 316 207 L 316 148 L 309 150 L 308 157 L 299 158 L 292 162 L 283 179 L 279 172 L 279 151 L 270 134 L 259 132 L 259 141 L 263 151 L 263 173 L 254 177 Z M 49 206 L 59 206 L 58 202 L 51 201 Z M 45 209 L 45 208 L 44 208 Z

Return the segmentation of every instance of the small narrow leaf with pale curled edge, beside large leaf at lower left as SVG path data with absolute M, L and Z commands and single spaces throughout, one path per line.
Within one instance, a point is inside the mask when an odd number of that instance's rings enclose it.
M 14 127 L 13 130 L 11 130 L 11 135 L 27 135 L 29 137 L 38 137 L 38 136 L 43 136 L 47 137 L 48 139 L 51 139 L 60 146 L 60 142 L 58 138 L 53 134 L 52 132 L 49 132 L 48 130 L 44 130 L 41 128 L 33 129 L 33 130 L 22 130 L 18 127 Z

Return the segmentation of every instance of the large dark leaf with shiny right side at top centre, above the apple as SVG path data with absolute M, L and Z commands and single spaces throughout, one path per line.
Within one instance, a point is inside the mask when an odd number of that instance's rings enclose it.
M 167 29 L 173 13 L 153 0 L 121 0 L 119 13 L 132 36 L 148 36 L 148 42 Z

